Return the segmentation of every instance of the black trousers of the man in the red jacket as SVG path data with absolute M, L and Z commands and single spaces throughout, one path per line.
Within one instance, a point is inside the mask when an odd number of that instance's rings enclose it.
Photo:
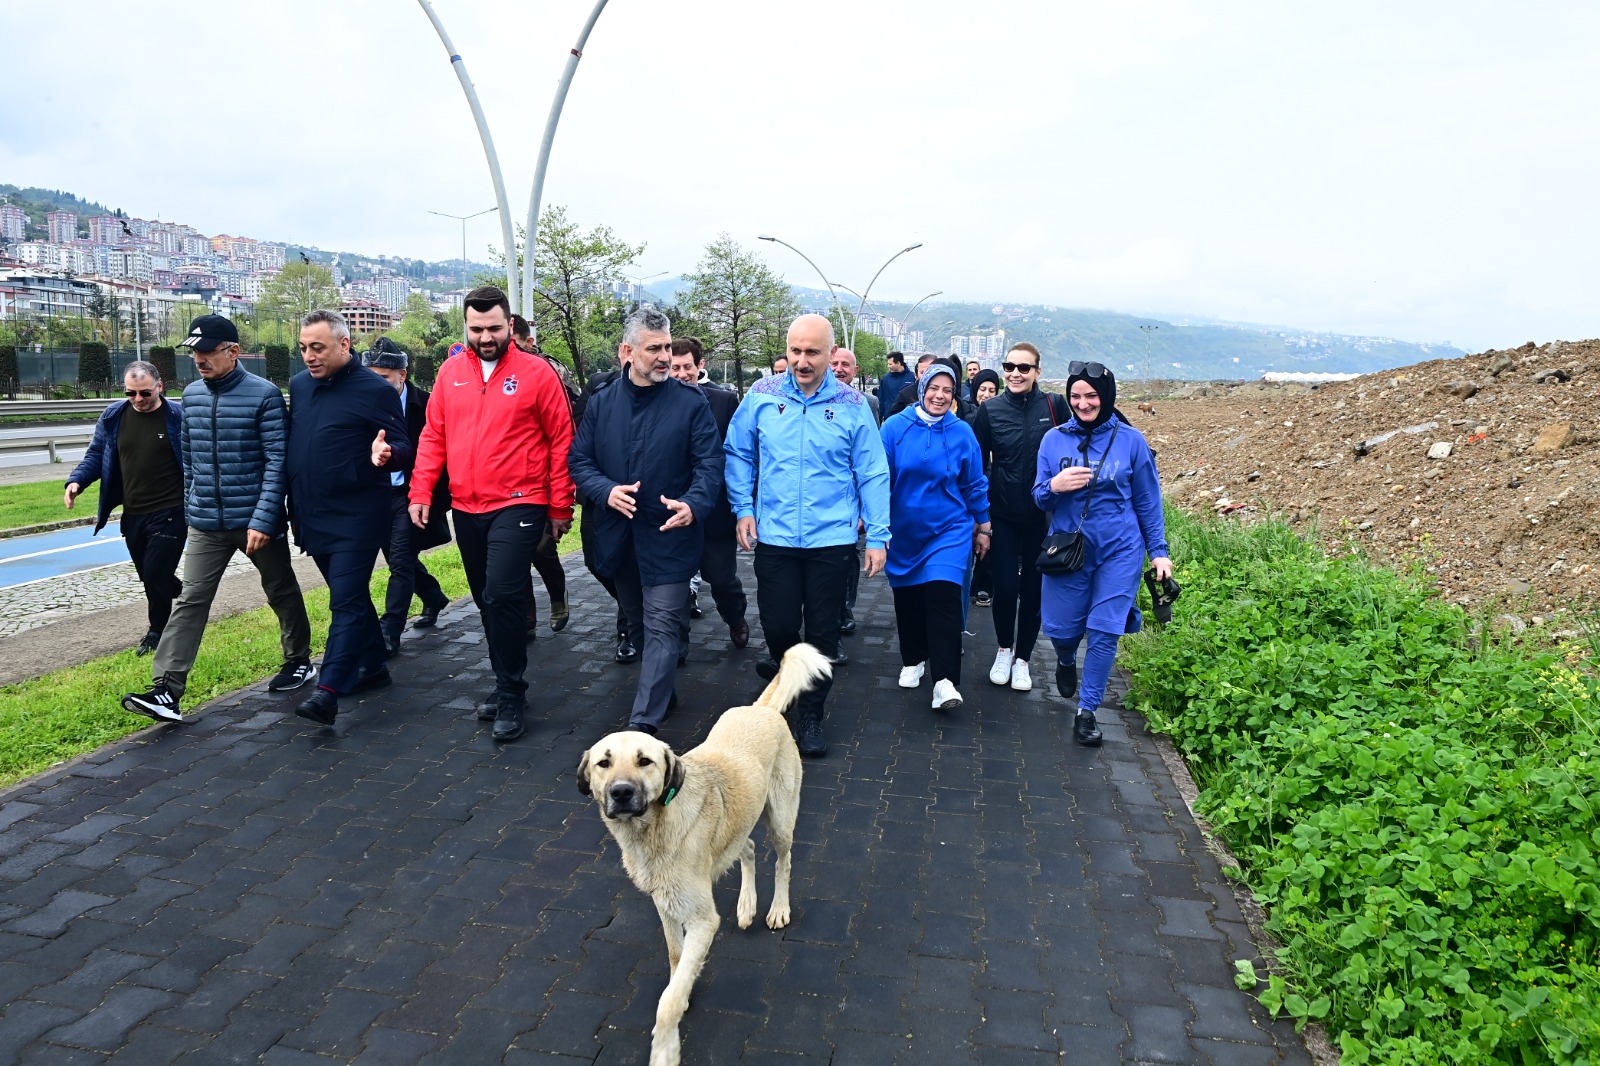
M 547 522 L 541 504 L 456 511 L 456 546 L 494 667 L 494 691 L 523 696 L 528 682 L 528 568 Z

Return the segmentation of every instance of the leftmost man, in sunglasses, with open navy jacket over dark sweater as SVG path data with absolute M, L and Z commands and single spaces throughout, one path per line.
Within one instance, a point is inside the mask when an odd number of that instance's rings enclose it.
M 83 461 L 67 479 L 66 504 L 101 482 L 94 533 L 106 528 L 112 507 L 122 504 L 122 539 L 144 586 L 149 629 L 136 650 L 155 651 L 173 600 L 182 589 L 178 562 L 184 555 L 182 405 L 163 395 L 162 371 L 144 360 L 128 363 L 122 376 L 125 400 L 117 400 L 94 423 Z

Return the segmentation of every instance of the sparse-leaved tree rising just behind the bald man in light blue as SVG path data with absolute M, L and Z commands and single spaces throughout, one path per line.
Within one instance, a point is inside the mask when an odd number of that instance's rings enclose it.
M 789 323 L 800 312 L 789 283 L 728 234 L 706 245 L 685 275 L 683 309 L 699 325 L 707 355 L 733 360 L 733 379 L 744 392 L 744 365 L 771 362 L 786 349 Z

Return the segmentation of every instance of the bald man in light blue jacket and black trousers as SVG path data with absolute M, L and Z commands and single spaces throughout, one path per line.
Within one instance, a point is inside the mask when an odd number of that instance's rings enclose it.
M 890 541 L 890 469 L 866 399 L 829 373 L 834 325 L 800 315 L 789 327 L 789 370 L 755 383 L 728 426 L 728 503 L 739 547 L 755 552 L 755 605 L 771 679 L 802 640 L 838 655 L 856 528 L 867 527 L 867 576 Z M 802 755 L 827 754 L 822 707 L 832 682 L 800 696 Z

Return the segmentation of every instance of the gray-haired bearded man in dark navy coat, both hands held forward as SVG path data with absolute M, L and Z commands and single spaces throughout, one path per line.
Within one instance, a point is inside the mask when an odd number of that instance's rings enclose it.
M 629 315 L 618 359 L 626 371 L 589 400 L 568 464 L 590 503 L 595 571 L 616 583 L 643 648 L 629 728 L 656 733 L 677 704 L 682 616 L 722 495 L 722 437 L 701 391 L 670 375 L 664 314 L 645 306 Z

